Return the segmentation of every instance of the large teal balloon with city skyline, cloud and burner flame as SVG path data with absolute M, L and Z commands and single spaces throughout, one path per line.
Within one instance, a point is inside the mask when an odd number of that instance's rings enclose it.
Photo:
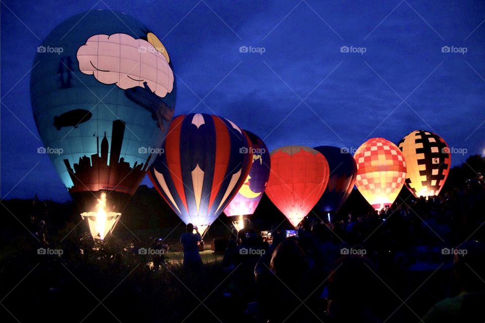
M 123 13 L 74 16 L 37 48 L 30 94 L 42 151 L 103 238 L 170 126 L 176 84 L 166 48 Z

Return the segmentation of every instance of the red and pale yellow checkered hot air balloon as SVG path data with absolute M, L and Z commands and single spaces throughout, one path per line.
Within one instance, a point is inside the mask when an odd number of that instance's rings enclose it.
M 406 178 L 406 161 L 399 148 L 384 138 L 364 142 L 354 155 L 355 185 L 375 209 L 393 204 Z

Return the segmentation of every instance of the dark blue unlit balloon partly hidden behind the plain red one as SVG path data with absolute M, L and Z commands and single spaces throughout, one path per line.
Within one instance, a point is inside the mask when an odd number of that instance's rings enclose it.
M 327 188 L 315 208 L 320 212 L 337 212 L 349 197 L 357 178 L 354 157 L 345 149 L 333 146 L 314 148 L 325 156 L 330 168 Z

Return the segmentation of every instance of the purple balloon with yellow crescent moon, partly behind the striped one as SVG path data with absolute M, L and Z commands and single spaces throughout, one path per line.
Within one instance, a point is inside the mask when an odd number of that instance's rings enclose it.
M 268 183 L 269 171 L 271 168 L 271 159 L 268 148 L 263 140 L 254 133 L 244 130 L 252 143 L 253 164 L 249 175 L 246 178 L 243 186 L 239 189 L 236 196 L 224 209 L 224 213 L 228 217 L 239 216 L 240 219 L 237 224 L 234 223 L 236 229 L 240 226 L 240 220 L 243 216 L 253 214 L 259 201 L 263 197 L 263 192 Z

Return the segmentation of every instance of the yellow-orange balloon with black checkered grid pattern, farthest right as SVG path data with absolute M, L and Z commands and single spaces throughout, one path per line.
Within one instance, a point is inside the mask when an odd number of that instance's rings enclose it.
M 414 196 L 440 194 L 451 166 L 450 148 L 439 135 L 416 130 L 398 144 L 407 165 L 406 187 Z

